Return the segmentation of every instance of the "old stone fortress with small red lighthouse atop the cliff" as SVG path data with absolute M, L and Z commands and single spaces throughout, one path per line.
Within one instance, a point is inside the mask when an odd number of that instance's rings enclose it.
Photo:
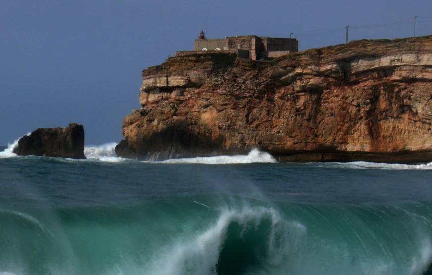
M 176 52 L 175 56 L 216 51 L 237 53 L 239 58 L 259 60 L 298 52 L 298 40 L 295 38 L 259 37 L 256 35 L 207 39 L 205 33 L 201 31 L 199 38 L 195 39 L 194 51 Z

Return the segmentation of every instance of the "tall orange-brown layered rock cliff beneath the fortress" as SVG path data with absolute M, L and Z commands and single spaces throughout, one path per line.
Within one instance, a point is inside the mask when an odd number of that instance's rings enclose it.
M 354 41 L 271 61 L 169 58 L 143 71 L 118 156 L 432 161 L 432 37 Z

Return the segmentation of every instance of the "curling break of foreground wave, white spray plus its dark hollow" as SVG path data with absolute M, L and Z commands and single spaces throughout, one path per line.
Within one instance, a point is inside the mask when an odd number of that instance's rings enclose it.
M 156 265 L 163 270 L 150 274 L 237 275 L 271 268 L 286 259 L 287 244 L 306 232 L 304 225 L 281 219 L 272 208 L 223 210 L 216 223 L 196 238 L 168 249 L 169 255 L 161 259 L 171 259 L 169 264 Z

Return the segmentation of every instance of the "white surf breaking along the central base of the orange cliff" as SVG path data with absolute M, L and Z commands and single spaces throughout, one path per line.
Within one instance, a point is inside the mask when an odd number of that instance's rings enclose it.
M 169 164 L 251 164 L 251 163 L 277 163 L 267 152 L 253 149 L 247 156 L 216 156 L 216 157 L 198 157 L 190 159 L 172 159 L 161 163 Z

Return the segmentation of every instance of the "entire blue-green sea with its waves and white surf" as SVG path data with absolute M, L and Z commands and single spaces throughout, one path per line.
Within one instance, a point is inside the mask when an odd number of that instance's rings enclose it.
M 422 275 L 432 165 L 0 148 L 0 275 Z

